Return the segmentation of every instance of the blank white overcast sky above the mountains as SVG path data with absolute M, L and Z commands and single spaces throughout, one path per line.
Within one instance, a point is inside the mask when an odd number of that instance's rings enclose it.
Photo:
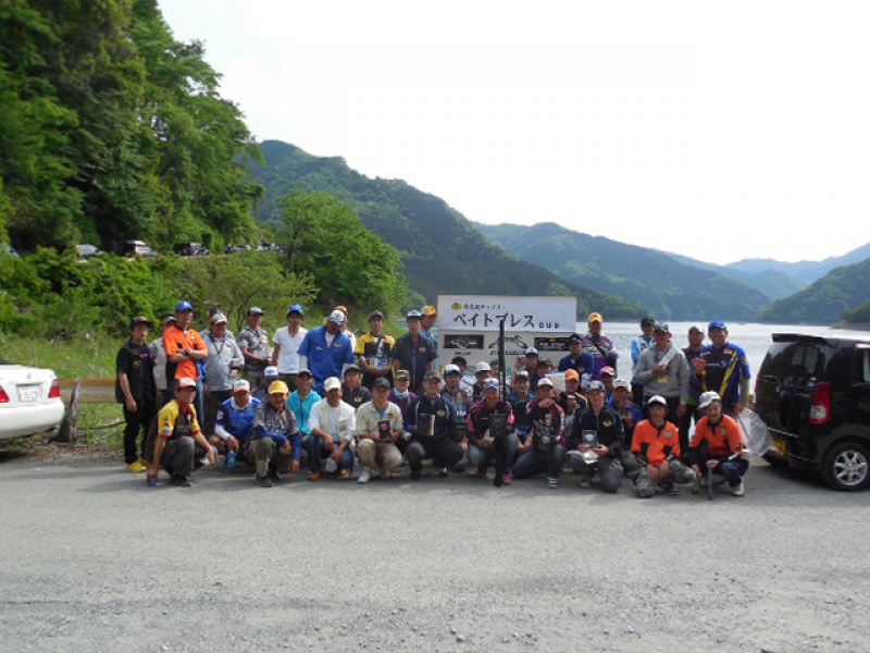
M 728 263 L 870 242 L 870 2 L 160 0 L 258 140 Z

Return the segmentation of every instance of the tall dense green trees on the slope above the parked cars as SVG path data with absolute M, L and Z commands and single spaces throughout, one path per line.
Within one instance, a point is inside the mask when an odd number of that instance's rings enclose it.
M 0 242 L 253 237 L 259 151 L 156 0 L 0 2 Z

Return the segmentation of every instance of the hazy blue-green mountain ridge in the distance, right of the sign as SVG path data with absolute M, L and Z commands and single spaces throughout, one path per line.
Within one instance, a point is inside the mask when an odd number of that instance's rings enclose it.
M 755 319 L 770 300 L 759 291 L 711 270 L 678 262 L 671 255 L 589 236 L 552 222 L 475 226 L 494 243 L 559 276 L 648 307 L 669 320 Z

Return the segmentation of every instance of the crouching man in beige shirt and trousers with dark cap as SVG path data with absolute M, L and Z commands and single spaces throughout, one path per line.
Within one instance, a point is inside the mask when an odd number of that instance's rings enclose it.
M 357 455 L 362 472 L 358 483 L 368 483 L 380 469 L 380 477 L 388 479 L 390 472 L 401 465 L 401 452 L 396 441 L 405 433 L 401 410 L 389 401 L 389 381 L 375 379 L 372 389 L 374 398 L 357 410 Z

